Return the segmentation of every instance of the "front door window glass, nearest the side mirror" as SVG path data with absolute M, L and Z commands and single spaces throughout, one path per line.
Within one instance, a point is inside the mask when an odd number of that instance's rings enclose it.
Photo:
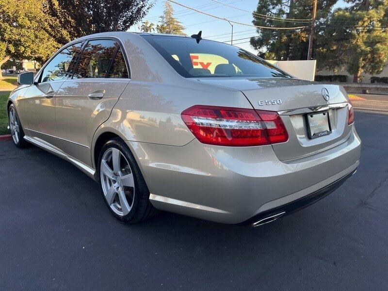
M 67 78 L 78 54 L 81 52 L 81 48 L 82 43 L 78 43 L 60 51 L 43 69 L 42 82 Z

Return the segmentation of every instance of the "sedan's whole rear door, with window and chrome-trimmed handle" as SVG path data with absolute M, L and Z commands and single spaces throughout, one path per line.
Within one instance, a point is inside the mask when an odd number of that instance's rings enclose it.
M 71 79 L 56 94 L 58 137 L 70 156 L 92 165 L 90 146 L 129 83 L 123 49 L 114 39 L 89 40 Z

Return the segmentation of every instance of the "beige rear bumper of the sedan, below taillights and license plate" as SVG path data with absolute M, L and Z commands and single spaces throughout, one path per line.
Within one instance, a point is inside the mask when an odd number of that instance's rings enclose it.
M 135 152 L 152 204 L 211 221 L 236 224 L 287 205 L 352 173 L 360 140 L 281 162 L 272 146 L 186 146 L 127 142 Z

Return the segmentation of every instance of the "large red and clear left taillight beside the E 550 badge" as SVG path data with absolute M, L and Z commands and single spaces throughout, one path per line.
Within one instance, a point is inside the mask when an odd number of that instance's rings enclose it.
M 261 146 L 288 140 L 287 130 L 276 112 L 195 105 L 181 116 L 204 144 Z

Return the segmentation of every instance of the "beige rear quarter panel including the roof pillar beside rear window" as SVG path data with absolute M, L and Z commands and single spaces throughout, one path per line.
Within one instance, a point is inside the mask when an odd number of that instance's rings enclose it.
M 94 141 L 111 131 L 128 141 L 184 146 L 194 135 L 180 117 L 183 110 L 197 104 L 252 108 L 239 90 L 183 78 L 142 36 L 123 34 L 121 40 L 131 81 Z

